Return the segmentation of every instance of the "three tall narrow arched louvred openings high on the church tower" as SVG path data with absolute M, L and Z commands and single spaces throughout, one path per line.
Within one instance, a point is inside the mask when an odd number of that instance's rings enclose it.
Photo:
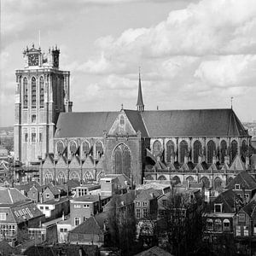
M 39 79 L 39 104 L 40 108 L 44 108 L 44 78 Z M 28 83 L 27 79 L 23 79 L 23 108 L 27 108 L 28 105 Z M 37 79 L 32 77 L 31 79 L 31 105 L 32 108 L 37 107 Z

